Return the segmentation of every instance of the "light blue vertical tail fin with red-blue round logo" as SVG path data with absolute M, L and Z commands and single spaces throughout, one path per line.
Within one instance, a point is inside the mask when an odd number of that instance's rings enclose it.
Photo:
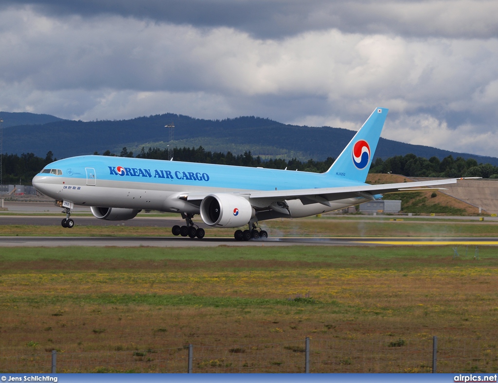
M 325 172 L 330 177 L 365 182 L 388 109 L 376 108 Z

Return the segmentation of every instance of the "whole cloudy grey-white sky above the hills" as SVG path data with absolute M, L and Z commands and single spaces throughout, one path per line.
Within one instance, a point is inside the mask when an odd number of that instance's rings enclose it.
M 0 110 L 241 115 L 498 156 L 496 0 L 2 0 Z

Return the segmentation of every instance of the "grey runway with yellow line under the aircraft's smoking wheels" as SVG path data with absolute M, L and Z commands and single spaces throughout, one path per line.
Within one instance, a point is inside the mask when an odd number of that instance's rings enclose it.
M 215 246 L 498 246 L 498 238 L 284 237 L 236 241 L 233 237 L 0 237 L 0 247 L 215 247 Z

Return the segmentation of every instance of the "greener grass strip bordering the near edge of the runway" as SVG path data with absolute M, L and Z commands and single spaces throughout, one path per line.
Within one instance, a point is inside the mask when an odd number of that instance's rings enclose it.
M 281 246 L 281 247 L 11 247 L 2 248 L 0 262 L 26 261 L 162 261 L 160 266 L 167 266 L 168 260 L 184 262 L 220 262 L 234 260 L 276 260 L 306 262 L 340 262 L 352 264 L 358 260 L 389 260 L 416 258 L 439 260 L 452 257 L 454 246 Z M 465 246 L 459 246 L 461 256 L 466 252 Z M 468 258 L 474 256 L 474 246 L 468 248 Z M 497 260 L 498 248 L 479 246 L 479 257 Z M 464 259 L 464 257 L 461 257 Z M 123 264 L 125 265 L 125 264 Z M 195 266 L 195 263 L 192 265 Z M 495 262 L 496 265 L 496 262 Z M 67 268 L 67 264 L 64 265 Z M 24 265 L 29 270 L 29 264 Z M 71 270 L 71 268 L 68 268 Z

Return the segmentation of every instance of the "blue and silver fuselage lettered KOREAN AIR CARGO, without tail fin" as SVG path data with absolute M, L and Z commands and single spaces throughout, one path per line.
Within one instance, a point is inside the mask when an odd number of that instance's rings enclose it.
M 297 190 L 360 186 L 342 175 L 249 168 L 138 158 L 80 156 L 56 161 L 33 185 L 57 200 L 77 205 L 199 213 L 182 193 Z M 59 171 L 59 172 L 58 172 Z M 293 217 L 307 216 L 365 201 L 348 198 L 331 207 L 289 201 Z

